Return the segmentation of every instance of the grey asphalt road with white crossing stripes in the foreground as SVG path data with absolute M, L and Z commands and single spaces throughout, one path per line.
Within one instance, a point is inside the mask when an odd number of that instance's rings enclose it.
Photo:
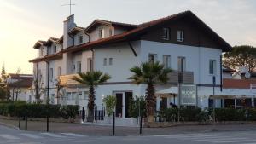
M 144 136 L 88 136 L 15 130 L 0 125 L 0 144 L 256 144 L 256 131 L 225 131 Z

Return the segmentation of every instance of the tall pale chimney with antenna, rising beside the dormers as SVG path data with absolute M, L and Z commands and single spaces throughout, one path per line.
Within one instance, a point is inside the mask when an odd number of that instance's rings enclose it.
M 73 46 L 73 37 L 70 37 L 68 32 L 70 32 L 76 26 L 77 25 L 74 23 L 74 14 L 68 16 L 67 20 L 64 21 L 63 49 Z

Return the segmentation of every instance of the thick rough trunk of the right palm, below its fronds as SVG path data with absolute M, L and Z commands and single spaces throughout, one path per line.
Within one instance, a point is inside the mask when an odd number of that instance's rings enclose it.
M 148 122 L 154 122 L 155 95 L 153 83 L 148 83 L 148 87 L 146 89 L 146 106 Z

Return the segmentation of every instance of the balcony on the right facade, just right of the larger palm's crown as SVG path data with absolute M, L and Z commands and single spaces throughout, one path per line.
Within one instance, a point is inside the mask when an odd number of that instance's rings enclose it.
M 178 72 L 178 71 L 172 71 L 168 75 L 169 83 L 171 84 L 194 84 L 194 72 Z

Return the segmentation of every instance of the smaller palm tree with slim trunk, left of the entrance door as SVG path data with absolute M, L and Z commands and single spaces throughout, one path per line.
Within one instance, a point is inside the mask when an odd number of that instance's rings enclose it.
M 95 106 L 95 89 L 97 85 L 106 82 L 110 79 L 110 75 L 107 73 L 102 73 L 100 71 L 95 72 L 79 72 L 79 76 L 73 77 L 73 80 L 79 82 L 79 84 L 84 84 L 89 87 L 89 101 L 88 101 L 88 118 L 87 121 L 93 122 L 94 117 L 94 106 Z

